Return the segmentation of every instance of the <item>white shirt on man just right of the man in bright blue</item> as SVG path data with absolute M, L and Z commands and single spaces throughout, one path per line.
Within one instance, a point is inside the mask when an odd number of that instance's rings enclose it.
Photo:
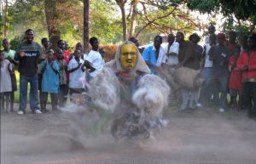
M 169 48 L 169 53 L 178 54 L 178 47 L 179 47 L 179 43 L 173 42 L 172 46 Z M 166 47 L 166 54 L 167 53 L 168 53 L 168 46 Z M 178 64 L 177 55 L 176 56 L 170 55 L 169 57 L 166 56 L 165 63 L 167 65 L 177 65 Z

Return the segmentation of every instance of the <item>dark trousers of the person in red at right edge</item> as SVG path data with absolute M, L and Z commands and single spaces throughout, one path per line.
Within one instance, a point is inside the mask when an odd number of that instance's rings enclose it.
M 256 82 L 243 82 L 242 88 L 244 108 L 249 116 L 256 116 Z

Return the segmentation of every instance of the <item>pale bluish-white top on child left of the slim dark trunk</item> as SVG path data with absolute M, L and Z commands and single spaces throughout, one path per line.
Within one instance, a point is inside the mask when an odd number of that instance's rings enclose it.
M 84 60 L 79 59 L 79 63 L 83 64 Z M 70 71 L 76 68 L 79 63 L 75 58 L 71 59 L 68 63 L 67 70 Z M 81 66 L 78 70 L 69 73 L 69 88 L 84 88 L 83 79 L 85 79 L 85 73 L 81 70 Z

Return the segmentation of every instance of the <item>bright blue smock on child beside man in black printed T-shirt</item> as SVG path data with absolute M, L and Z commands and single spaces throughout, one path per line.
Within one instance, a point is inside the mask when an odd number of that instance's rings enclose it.
M 42 69 L 44 68 L 44 65 L 46 65 L 46 60 L 42 62 Z M 53 67 L 56 71 L 58 71 L 57 74 L 55 73 L 55 71 L 53 71 L 49 64 L 47 64 L 45 68 L 42 80 L 42 92 L 44 93 L 59 93 L 60 91 L 60 67 L 57 61 L 53 62 Z

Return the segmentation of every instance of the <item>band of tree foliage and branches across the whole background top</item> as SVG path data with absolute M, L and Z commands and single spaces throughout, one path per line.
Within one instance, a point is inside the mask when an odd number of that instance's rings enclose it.
M 38 39 L 49 37 L 56 42 L 61 38 L 71 45 L 83 40 L 82 0 L 16 0 L 8 5 L 8 12 L 4 7 L 2 4 L 1 37 L 3 17 L 8 13 L 8 37 L 22 38 L 23 32 L 32 28 Z M 254 0 L 90 0 L 89 36 L 101 42 L 115 43 L 129 37 L 148 42 L 155 34 L 205 28 L 191 10 L 213 17 L 223 14 L 224 31 L 247 31 L 256 23 L 255 7 Z

